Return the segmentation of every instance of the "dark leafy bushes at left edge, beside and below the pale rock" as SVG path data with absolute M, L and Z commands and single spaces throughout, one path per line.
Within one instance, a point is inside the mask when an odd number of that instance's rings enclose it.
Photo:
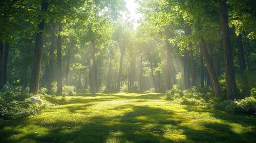
M 21 90 L 21 86 L 4 85 L 0 92 L 0 119 L 20 119 L 41 113 L 42 107 L 33 104 L 32 97 L 27 90 Z

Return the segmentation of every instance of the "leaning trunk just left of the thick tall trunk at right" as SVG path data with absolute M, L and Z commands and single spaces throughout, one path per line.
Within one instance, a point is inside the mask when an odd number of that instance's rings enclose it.
M 202 41 L 200 42 L 200 48 L 202 50 L 203 58 L 205 59 L 206 67 L 212 82 L 212 86 L 214 88 L 214 94 L 219 95 L 220 94 L 220 83 L 218 82 L 218 77 L 214 71 L 214 66 L 210 60 L 208 49 L 205 43 L 205 40 L 202 38 Z

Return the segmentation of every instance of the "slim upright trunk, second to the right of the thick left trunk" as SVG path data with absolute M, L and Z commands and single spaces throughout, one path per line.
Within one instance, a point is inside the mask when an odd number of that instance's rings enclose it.
M 62 93 L 62 73 L 61 73 L 61 36 L 62 31 L 61 23 L 58 25 L 58 38 L 57 38 L 57 92 Z

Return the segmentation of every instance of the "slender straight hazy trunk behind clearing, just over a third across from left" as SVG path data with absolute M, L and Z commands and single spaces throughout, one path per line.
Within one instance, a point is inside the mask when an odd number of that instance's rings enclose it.
M 91 94 L 96 92 L 96 65 L 95 65 L 95 43 L 92 41 L 92 70 L 91 70 Z

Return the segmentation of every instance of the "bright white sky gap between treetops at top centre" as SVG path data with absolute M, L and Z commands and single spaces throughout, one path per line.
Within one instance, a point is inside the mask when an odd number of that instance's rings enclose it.
M 136 29 L 138 27 L 137 20 L 141 17 L 141 14 L 136 13 L 136 8 L 138 7 L 138 5 L 134 3 L 134 0 L 125 0 L 125 2 L 127 3 L 126 7 L 129 10 L 129 20 L 134 20 L 133 26 Z

